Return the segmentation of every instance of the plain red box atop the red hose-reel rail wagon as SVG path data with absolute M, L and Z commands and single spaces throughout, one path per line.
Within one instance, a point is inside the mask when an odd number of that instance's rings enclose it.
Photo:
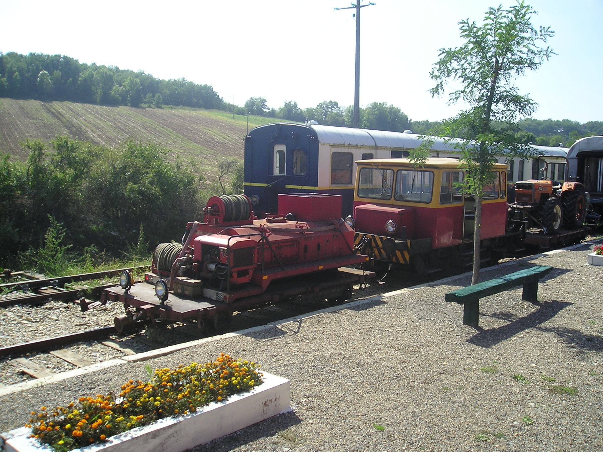
M 292 213 L 297 221 L 341 218 L 341 196 L 324 193 L 279 194 L 279 215 Z

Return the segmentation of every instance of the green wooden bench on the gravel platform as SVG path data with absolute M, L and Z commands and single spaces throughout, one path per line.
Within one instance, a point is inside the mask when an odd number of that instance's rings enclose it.
M 552 271 L 552 267 L 537 265 L 474 286 L 463 287 L 446 293 L 448 303 L 464 304 L 463 325 L 477 327 L 479 322 L 479 299 L 523 285 L 522 300 L 537 301 L 538 280 Z

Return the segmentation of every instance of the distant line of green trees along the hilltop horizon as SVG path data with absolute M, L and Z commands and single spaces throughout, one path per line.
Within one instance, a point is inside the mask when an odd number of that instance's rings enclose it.
M 322 125 L 351 127 L 353 106 L 323 101 L 315 107 L 301 108 L 286 101 L 279 108 L 268 107 L 264 97 L 247 99 L 243 107 L 224 102 L 207 84 L 184 78 L 162 80 L 143 71 L 128 71 L 116 66 L 80 63 L 65 55 L 28 55 L 0 52 L 0 97 L 72 101 L 101 105 L 161 107 L 175 105 L 229 111 L 235 115 L 259 115 L 276 120 L 317 121 Z M 412 121 L 408 115 L 387 102 L 372 102 L 360 108 L 360 127 L 428 134 L 440 121 Z M 524 119 L 516 133 L 525 143 L 542 146 L 571 146 L 585 136 L 602 135 L 603 122 L 563 119 Z

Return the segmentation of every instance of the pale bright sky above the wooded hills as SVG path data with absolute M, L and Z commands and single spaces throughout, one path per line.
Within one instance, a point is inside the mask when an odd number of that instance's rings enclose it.
M 434 121 L 449 107 L 427 90 L 438 48 L 459 45 L 458 22 L 481 22 L 497 0 L 373 0 L 361 13 L 360 102 L 388 102 Z M 366 3 L 367 0 L 364 1 Z M 603 0 L 531 0 L 534 25 L 551 25 L 558 53 L 520 79 L 540 104 L 534 118 L 603 121 Z M 503 2 L 505 6 L 511 0 Z M 355 20 L 350 0 L 0 0 L 0 51 L 63 54 L 213 86 L 242 105 L 354 101 Z

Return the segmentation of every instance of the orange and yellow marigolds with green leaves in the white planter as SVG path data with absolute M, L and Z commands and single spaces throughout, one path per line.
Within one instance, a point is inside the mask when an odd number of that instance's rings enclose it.
M 110 393 L 80 397 L 79 406 L 32 412 L 32 437 L 56 452 L 106 441 L 134 427 L 157 419 L 194 413 L 213 401 L 250 391 L 262 384 L 262 373 L 254 362 L 220 354 L 213 362 L 191 363 L 175 369 L 156 369 L 151 381 L 130 380 L 118 396 Z

